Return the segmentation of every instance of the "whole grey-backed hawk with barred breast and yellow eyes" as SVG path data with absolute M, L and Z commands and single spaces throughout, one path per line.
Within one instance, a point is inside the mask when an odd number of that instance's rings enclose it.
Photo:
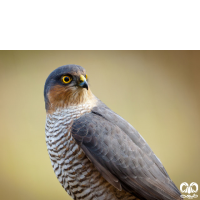
M 182 199 L 139 132 L 92 93 L 83 67 L 51 72 L 44 101 L 47 151 L 72 199 Z

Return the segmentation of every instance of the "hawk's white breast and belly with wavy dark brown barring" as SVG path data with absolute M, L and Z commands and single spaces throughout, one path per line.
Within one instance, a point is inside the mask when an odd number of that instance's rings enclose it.
M 89 105 L 84 104 L 47 115 L 46 144 L 59 182 L 75 200 L 137 199 L 108 183 L 72 138 L 70 129 L 73 121 L 90 110 Z

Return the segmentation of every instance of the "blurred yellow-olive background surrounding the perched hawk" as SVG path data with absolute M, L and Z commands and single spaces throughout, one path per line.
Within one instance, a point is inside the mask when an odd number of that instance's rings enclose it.
M 92 92 L 140 132 L 178 188 L 200 185 L 200 51 L 0 51 L 0 199 L 70 199 L 47 153 L 43 98 L 65 64 L 86 69 Z

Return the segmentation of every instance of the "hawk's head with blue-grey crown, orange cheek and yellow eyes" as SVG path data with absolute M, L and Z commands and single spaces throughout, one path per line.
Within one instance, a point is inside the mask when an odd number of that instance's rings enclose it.
M 64 65 L 48 76 L 44 87 L 48 113 L 57 109 L 84 104 L 93 98 L 86 71 L 79 65 Z

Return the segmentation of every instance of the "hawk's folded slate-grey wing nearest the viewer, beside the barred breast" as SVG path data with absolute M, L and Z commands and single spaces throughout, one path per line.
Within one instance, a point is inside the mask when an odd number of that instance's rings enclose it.
M 140 148 L 123 128 L 103 113 L 93 109 L 75 120 L 71 131 L 102 176 L 119 190 L 141 199 L 181 199 L 163 166 L 160 167 L 162 164 L 155 162 L 155 155 Z

